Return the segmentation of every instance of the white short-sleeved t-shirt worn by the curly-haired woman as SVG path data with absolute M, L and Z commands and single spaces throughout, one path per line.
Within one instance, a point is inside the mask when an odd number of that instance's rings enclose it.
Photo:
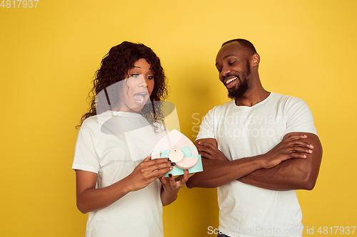
M 89 117 L 79 130 L 72 169 L 98 174 L 96 188 L 104 188 L 131 174 L 164 135 L 155 134 L 144 117 L 131 112 Z M 156 179 L 105 209 L 90 212 L 86 236 L 164 236 L 160 191 Z

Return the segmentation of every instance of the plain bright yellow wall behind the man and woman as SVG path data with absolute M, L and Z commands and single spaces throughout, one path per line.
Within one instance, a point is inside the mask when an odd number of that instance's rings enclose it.
M 71 171 L 79 118 L 101 58 L 122 41 L 161 58 L 181 132 L 228 101 L 214 67 L 221 43 L 247 38 L 264 88 L 311 107 L 323 144 L 313 191 L 298 191 L 307 228 L 357 226 L 355 0 L 40 0 L 0 7 L 0 236 L 84 236 Z M 175 214 L 174 214 L 175 213 Z M 208 235 L 215 189 L 183 188 L 164 207 L 164 233 Z M 306 228 L 307 227 L 307 228 Z M 333 228 L 333 235 L 335 229 Z M 357 230 L 354 231 L 357 234 Z

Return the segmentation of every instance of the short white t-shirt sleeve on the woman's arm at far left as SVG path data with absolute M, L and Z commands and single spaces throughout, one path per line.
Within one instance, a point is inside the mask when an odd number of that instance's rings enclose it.
M 74 162 L 72 169 L 81 169 L 88 172 L 99 172 L 99 157 L 96 154 L 91 132 L 81 127 L 78 132 L 76 147 L 74 149 Z

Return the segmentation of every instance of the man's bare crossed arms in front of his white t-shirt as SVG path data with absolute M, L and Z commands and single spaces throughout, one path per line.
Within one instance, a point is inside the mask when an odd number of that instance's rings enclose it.
M 188 188 L 211 188 L 237 179 L 263 189 L 310 190 L 316 183 L 322 157 L 318 137 L 304 132 L 286 135 L 266 154 L 233 161 L 228 161 L 217 149 L 216 139 L 200 139 L 195 144 L 206 159 L 202 159 L 203 172 L 197 173 L 186 183 Z

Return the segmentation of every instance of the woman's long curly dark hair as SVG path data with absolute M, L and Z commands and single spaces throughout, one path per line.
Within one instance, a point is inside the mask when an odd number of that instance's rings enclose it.
M 139 113 L 148 120 L 155 131 L 161 127 L 161 123 L 164 121 L 164 113 L 162 112 L 160 101 L 167 98 L 168 91 L 166 89 L 166 76 L 164 69 L 161 67 L 160 59 L 151 48 L 144 44 L 124 41 L 118 46 L 112 47 L 109 53 L 107 53 L 101 60 L 101 68 L 95 73 L 92 82 L 93 88 L 89 93 L 91 107 L 89 108 L 89 112 L 86 112 L 81 117 L 80 125 L 78 125 L 77 128 L 81 127 L 86 118 L 104 112 L 97 111 L 96 109 L 96 107 L 99 107 L 99 102 L 101 101 L 99 98 L 96 98 L 96 95 L 104 95 L 104 93 L 100 93 L 104 90 L 105 95 L 108 98 L 106 88 L 114 83 L 124 80 L 128 75 L 128 71 L 131 68 L 134 68 L 134 63 L 141 58 L 144 58 L 151 65 L 155 83 L 154 89 L 150 95 L 151 103 L 144 105 Z M 119 96 L 115 100 L 119 101 Z M 113 104 L 118 101 L 111 100 L 111 103 Z

